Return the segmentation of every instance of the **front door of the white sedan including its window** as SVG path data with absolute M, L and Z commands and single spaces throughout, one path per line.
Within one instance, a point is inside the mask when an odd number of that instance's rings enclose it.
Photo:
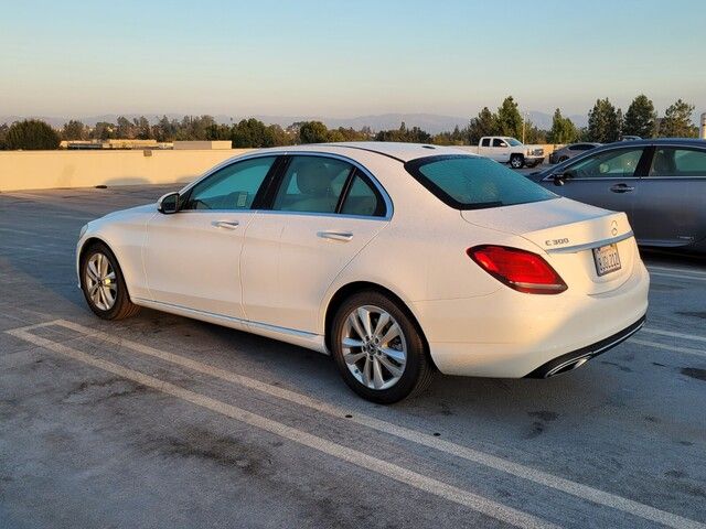
M 154 215 L 142 260 L 151 300 L 243 320 L 239 258 L 277 156 L 233 162 L 193 185 L 178 213 Z

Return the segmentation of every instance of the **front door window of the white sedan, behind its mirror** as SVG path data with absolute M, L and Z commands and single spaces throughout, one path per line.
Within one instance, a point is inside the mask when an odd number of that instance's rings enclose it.
M 194 185 L 182 209 L 249 209 L 275 160 L 254 158 L 216 171 Z

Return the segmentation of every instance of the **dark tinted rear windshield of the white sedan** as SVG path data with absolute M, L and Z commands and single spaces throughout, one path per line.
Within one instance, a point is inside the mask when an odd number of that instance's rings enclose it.
M 427 190 L 454 209 L 482 209 L 556 198 L 522 174 L 481 156 L 428 156 L 405 163 Z

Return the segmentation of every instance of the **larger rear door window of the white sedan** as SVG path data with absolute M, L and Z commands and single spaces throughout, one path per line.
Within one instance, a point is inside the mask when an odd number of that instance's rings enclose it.
M 295 156 L 277 190 L 272 209 L 335 213 L 353 165 L 332 158 Z

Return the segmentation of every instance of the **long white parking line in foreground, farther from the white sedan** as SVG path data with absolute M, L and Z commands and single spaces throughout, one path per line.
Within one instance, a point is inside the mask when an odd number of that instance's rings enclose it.
M 226 402 L 212 399 L 210 397 L 206 397 L 205 395 L 190 391 L 164 380 L 160 380 L 159 378 L 145 375 L 143 373 L 135 371 L 117 364 L 96 358 L 81 350 L 68 347 L 64 344 L 35 336 L 23 330 L 12 330 L 7 332 L 18 338 L 24 339 L 45 349 L 53 350 L 54 353 L 67 356 L 68 358 L 72 358 L 74 360 L 83 361 L 84 364 L 87 364 L 89 366 L 103 369 L 108 373 L 113 373 L 114 375 L 117 375 L 125 379 L 132 380 L 142 386 L 147 386 L 158 391 L 162 391 L 167 395 L 171 395 L 172 397 L 176 397 L 202 408 L 215 411 L 216 413 L 221 413 L 223 415 L 235 419 L 236 421 L 274 433 L 295 443 L 299 443 L 303 446 L 318 450 L 319 452 L 322 452 L 324 454 L 331 455 L 347 463 L 352 463 L 382 476 L 389 477 L 425 493 L 432 494 L 440 498 L 448 499 L 449 501 L 453 501 L 456 504 L 471 508 L 485 516 L 495 518 L 515 527 L 547 529 L 558 528 L 558 526 L 542 520 L 541 518 L 513 509 L 512 507 L 498 504 L 491 499 L 478 496 L 468 490 L 454 487 L 422 474 L 418 474 L 414 471 L 395 465 L 393 463 L 378 460 L 377 457 L 370 456 L 356 450 L 333 443 L 325 439 L 312 435 L 301 430 L 297 430 L 277 421 L 272 421 L 271 419 L 252 413 Z

